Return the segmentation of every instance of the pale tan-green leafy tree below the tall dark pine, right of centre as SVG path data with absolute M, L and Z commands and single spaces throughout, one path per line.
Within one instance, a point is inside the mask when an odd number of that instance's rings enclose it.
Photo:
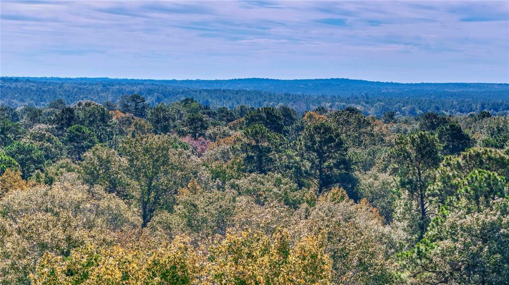
M 395 284 L 389 258 L 398 247 L 375 208 L 361 200 L 354 203 L 345 190 L 333 188 L 316 205 L 303 205 L 292 225 L 296 239 L 321 235 L 325 253 L 332 260 L 333 284 Z

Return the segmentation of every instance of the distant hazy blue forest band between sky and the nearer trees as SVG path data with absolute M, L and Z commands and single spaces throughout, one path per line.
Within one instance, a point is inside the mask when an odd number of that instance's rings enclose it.
M 185 98 L 218 108 L 238 105 L 252 107 L 286 105 L 297 112 L 348 106 L 365 115 L 418 116 L 433 112 L 466 115 L 488 111 L 509 114 L 509 84 L 419 83 L 401 84 L 349 79 L 274 80 L 126 80 L 109 78 L 13 78 L 0 79 L 0 103 L 13 108 L 23 105 L 47 106 L 63 98 L 67 104 L 80 100 L 117 103 L 133 93 L 151 106 Z

